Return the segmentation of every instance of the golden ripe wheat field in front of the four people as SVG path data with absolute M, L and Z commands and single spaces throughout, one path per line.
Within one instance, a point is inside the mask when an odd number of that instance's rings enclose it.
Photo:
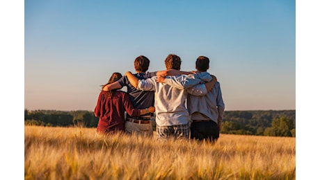
M 296 138 L 221 134 L 214 144 L 24 127 L 24 179 L 296 179 Z

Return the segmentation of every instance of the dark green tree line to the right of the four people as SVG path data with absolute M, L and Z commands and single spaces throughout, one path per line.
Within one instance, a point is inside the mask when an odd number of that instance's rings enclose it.
M 223 134 L 296 136 L 296 111 L 225 111 Z

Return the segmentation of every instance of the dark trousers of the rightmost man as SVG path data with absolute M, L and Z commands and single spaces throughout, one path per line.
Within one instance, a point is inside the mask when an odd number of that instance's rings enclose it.
M 193 122 L 191 123 L 190 135 L 191 139 L 206 139 L 208 141 L 216 142 L 219 138 L 219 128 L 213 120 Z

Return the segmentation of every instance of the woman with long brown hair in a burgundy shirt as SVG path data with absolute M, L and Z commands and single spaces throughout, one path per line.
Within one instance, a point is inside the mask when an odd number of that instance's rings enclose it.
M 111 84 L 122 78 L 120 73 L 113 73 L 109 82 Z M 102 85 L 103 87 L 106 84 Z M 102 87 L 102 89 L 103 89 Z M 141 116 L 147 113 L 153 113 L 154 107 L 147 109 L 134 109 L 134 105 L 129 98 L 129 95 L 124 91 L 101 91 L 95 107 L 95 116 L 99 117 L 97 125 L 98 133 L 109 133 L 117 131 L 125 131 L 125 111 L 129 116 Z

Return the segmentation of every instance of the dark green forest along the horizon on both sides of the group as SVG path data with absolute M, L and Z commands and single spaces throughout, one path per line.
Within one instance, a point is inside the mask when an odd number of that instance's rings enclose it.
M 25 125 L 97 127 L 93 111 L 24 110 Z M 225 111 L 223 134 L 296 136 L 296 111 Z

